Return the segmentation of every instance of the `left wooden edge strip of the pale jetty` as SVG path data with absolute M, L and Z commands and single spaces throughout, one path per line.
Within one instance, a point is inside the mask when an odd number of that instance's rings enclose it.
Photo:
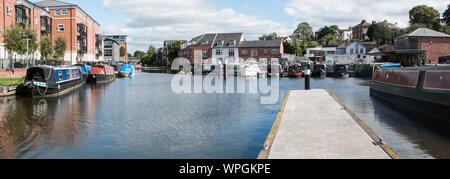
M 277 114 L 277 118 L 275 119 L 275 122 L 272 125 L 272 129 L 269 132 L 269 135 L 266 138 L 266 141 L 264 142 L 263 148 L 261 149 L 258 158 L 257 159 L 268 159 L 270 154 L 270 149 L 272 148 L 273 141 L 275 140 L 275 136 L 278 132 L 278 127 L 280 126 L 281 122 L 281 116 L 283 115 L 284 108 L 286 107 L 286 103 L 289 99 L 289 95 L 291 94 L 291 91 L 289 90 L 286 96 L 284 97 L 283 103 L 281 104 L 280 111 Z

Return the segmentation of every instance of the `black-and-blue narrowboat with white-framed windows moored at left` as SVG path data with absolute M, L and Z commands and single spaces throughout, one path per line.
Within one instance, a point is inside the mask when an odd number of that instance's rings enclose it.
M 27 70 L 17 94 L 32 97 L 57 97 L 83 86 L 78 67 L 38 66 Z

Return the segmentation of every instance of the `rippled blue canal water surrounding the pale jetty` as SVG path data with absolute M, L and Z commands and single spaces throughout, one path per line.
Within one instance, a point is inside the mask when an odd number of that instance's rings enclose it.
M 260 94 L 175 94 L 173 77 L 138 73 L 60 98 L 0 98 L 0 158 L 254 159 L 287 91 L 304 88 L 303 79 L 282 78 L 279 102 L 262 105 Z M 311 84 L 332 91 L 402 157 L 450 158 L 448 127 L 371 97 L 368 80 Z

